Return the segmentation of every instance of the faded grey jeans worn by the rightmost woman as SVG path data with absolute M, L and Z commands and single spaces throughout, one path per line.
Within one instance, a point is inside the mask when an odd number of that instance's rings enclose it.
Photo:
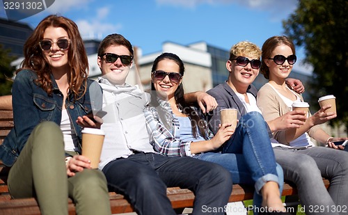
M 348 214 L 348 154 L 312 147 L 305 150 L 274 148 L 285 180 L 296 184 L 306 214 Z M 330 180 L 326 190 L 322 177 Z M 319 213 L 321 212 L 321 213 Z

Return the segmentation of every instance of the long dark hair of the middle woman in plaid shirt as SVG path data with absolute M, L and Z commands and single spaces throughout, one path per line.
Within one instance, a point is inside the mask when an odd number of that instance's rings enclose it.
M 167 52 L 157 56 L 157 58 L 155 59 L 152 65 L 151 74 L 153 74 L 153 72 L 157 70 L 157 65 L 159 61 L 163 61 L 164 59 L 175 61 L 175 63 L 179 65 L 179 68 L 180 68 L 179 73 L 182 75 L 182 77 L 184 76 L 185 67 L 182 60 L 176 54 L 167 53 Z M 151 97 L 153 99 L 151 99 L 150 104 L 155 107 L 160 107 L 160 105 L 157 102 L 157 99 L 155 99 L 157 97 L 157 93 L 156 93 L 156 88 L 153 82 L 151 82 Z M 200 118 L 197 111 L 191 108 L 191 104 L 188 104 L 186 100 L 184 99 L 184 87 L 182 86 L 182 83 L 180 83 L 180 85 L 177 87 L 177 90 L 175 90 L 174 97 L 175 97 L 175 103 L 178 109 L 182 110 L 182 113 L 189 116 L 191 120 L 191 131 L 193 136 L 195 138 L 198 137 L 198 134 L 197 134 L 197 129 L 198 129 L 200 134 L 205 138 L 207 136 L 207 126 L 205 125 L 204 120 Z M 159 108 L 157 109 L 157 111 L 159 112 L 159 117 L 161 118 L 161 121 L 165 123 L 166 122 L 166 120 L 164 119 L 165 110 Z

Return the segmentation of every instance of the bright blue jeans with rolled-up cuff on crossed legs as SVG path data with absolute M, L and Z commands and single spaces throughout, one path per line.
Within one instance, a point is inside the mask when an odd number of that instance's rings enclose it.
M 223 145 L 221 153 L 195 156 L 225 167 L 232 175 L 233 184 L 255 184 L 255 207 L 261 207 L 260 190 L 266 182 L 277 182 L 280 193 L 283 191 L 283 170 L 276 164 L 267 127 L 260 113 L 246 113 L 239 119 L 235 134 Z

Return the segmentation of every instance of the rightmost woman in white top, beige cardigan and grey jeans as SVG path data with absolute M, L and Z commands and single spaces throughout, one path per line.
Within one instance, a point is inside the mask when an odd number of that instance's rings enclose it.
M 285 84 L 294 63 L 294 44 L 289 38 L 274 36 L 264 42 L 261 73 L 269 82 L 258 92 L 258 106 L 267 121 L 292 111 L 293 102 L 303 102 L 303 97 Z M 348 213 L 348 154 L 331 149 L 337 148 L 332 141 L 347 138 L 333 138 L 317 126 L 336 117 L 335 113 L 324 113 L 330 107 L 323 106 L 313 116 L 308 113 L 309 117 L 299 128 L 274 132 L 274 138 L 280 143 L 274 148 L 276 161 L 283 167 L 285 180 L 298 186 L 299 199 L 306 214 Z M 306 112 L 303 111 L 303 114 Z M 310 147 L 313 145 L 310 137 L 326 143 L 329 148 Z M 329 192 L 324 187 L 322 177 L 330 180 Z M 316 207 L 322 209 L 316 211 Z

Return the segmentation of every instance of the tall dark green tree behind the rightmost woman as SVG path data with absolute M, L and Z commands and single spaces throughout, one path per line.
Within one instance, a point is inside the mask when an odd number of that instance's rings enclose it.
M 335 95 L 338 117 L 331 125 L 348 128 L 348 1 L 301 0 L 283 21 L 285 34 L 304 47 L 306 63 L 313 65 L 309 90 L 311 103 Z

